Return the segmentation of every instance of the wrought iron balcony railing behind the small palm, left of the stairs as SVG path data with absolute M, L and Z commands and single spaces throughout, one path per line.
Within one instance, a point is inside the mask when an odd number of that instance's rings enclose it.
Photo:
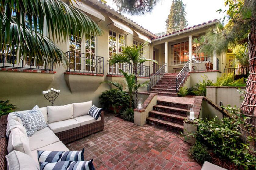
M 133 65 L 128 63 L 117 63 L 109 66 L 109 75 L 123 75 L 119 69 L 126 73 L 133 73 Z M 150 67 L 143 64 L 138 65 L 138 76 L 150 77 Z

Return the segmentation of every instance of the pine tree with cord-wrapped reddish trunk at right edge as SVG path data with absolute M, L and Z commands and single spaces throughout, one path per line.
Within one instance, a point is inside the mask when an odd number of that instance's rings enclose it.
M 250 75 L 246 82 L 241 112 L 243 116 L 250 117 L 244 121 L 247 126 L 242 127 L 243 140 L 248 141 L 248 136 L 256 137 L 256 0 L 226 0 L 225 4 L 229 6 L 227 16 L 224 17 L 228 20 L 226 28 L 222 21 L 217 25 L 217 33 L 210 29 L 204 36 L 194 40 L 200 43 L 202 52 L 217 54 L 225 53 L 228 47 L 236 46 L 239 42 L 247 43 Z M 247 37 L 246 41 L 244 35 Z M 250 146 L 254 148 L 255 143 L 251 142 Z

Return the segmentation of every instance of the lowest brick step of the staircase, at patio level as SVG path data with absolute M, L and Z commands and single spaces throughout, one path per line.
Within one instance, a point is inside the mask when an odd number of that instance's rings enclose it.
M 169 131 L 183 132 L 184 130 L 184 127 L 178 123 L 164 121 L 154 117 L 147 117 L 146 121 L 148 124 L 151 124 L 156 127 L 164 128 L 165 130 L 169 130 Z

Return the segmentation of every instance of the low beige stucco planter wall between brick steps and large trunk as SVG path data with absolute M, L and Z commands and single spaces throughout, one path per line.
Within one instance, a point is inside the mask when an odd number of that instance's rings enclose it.
M 241 88 L 242 90 L 245 89 L 245 87 Z M 237 90 L 238 87 L 207 87 L 206 97 L 217 105 L 222 101 L 224 106 L 231 105 L 234 107 L 236 105 L 237 107 L 240 107 L 240 94 Z

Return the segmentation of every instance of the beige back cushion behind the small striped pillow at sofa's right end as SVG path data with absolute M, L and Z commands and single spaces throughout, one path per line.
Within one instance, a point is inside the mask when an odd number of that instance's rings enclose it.
M 92 106 L 92 101 L 73 103 L 73 117 L 87 115 Z

